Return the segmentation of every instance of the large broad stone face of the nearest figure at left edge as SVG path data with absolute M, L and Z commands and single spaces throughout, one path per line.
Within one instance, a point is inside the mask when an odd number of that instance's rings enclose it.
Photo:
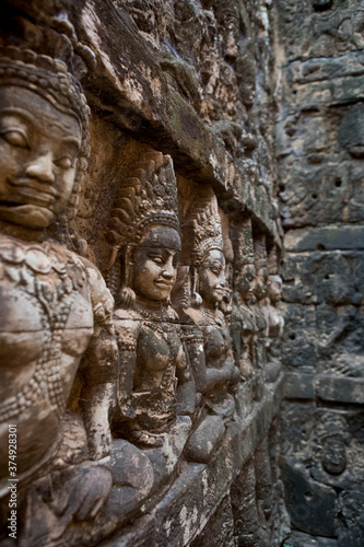
M 0 219 L 52 223 L 71 196 L 80 147 L 75 117 L 30 90 L 0 89 Z

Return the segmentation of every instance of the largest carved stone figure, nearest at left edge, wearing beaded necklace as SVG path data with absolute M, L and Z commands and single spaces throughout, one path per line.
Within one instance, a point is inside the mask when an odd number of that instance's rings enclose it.
M 61 60 L 12 46 L 0 55 L 1 513 L 11 423 L 23 535 L 44 545 L 72 519 L 93 517 L 111 487 L 113 298 L 95 266 L 60 241 L 71 241 L 89 153 L 80 86 Z M 70 409 L 78 373 L 84 403 Z

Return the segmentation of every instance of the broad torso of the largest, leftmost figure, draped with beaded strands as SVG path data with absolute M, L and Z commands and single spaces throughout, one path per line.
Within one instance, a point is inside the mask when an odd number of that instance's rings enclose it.
M 0 445 L 17 426 L 17 473 L 56 439 L 94 318 L 84 263 L 56 243 L 0 236 Z M 1 477 L 8 475 L 1 453 Z

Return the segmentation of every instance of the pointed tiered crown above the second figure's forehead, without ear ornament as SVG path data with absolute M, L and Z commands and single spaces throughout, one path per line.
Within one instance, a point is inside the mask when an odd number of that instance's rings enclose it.
M 108 241 L 118 247 L 139 244 L 152 225 L 179 232 L 177 184 L 169 155 L 151 151 L 132 166 L 118 190 L 108 223 Z

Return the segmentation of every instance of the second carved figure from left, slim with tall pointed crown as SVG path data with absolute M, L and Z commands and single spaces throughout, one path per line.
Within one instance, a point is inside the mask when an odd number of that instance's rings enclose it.
M 168 476 L 180 455 L 195 407 L 195 382 L 169 301 L 180 252 L 177 189 L 169 156 L 150 152 L 124 181 L 108 240 L 119 346 L 113 432 L 146 450 Z M 162 463 L 161 463 L 162 462 Z M 161 468 L 163 467 L 163 469 Z

